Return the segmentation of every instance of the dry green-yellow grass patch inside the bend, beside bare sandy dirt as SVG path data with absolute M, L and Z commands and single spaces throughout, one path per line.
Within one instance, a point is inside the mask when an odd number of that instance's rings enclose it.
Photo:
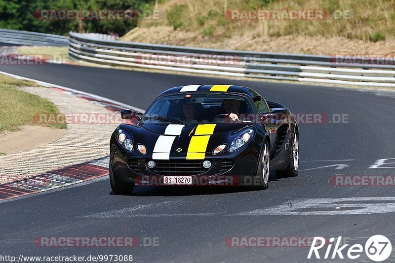
M 34 121 L 36 114 L 60 113 L 52 102 L 17 89 L 22 86 L 38 85 L 31 81 L 0 75 L 0 133 L 18 131 L 22 125 L 38 125 Z M 42 126 L 66 129 L 65 124 Z

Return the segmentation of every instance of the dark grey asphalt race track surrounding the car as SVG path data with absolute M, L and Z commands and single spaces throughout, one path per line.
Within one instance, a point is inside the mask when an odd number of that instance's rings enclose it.
M 0 65 L 0 70 L 139 108 L 146 108 L 168 87 L 235 84 L 254 88 L 294 114 L 324 114 L 331 122 L 337 119 L 334 115 L 347 116 L 344 123 L 304 124 L 302 119 L 299 176 L 280 179 L 273 173 L 265 191 L 136 187 L 132 196 L 115 196 L 105 179 L 0 203 L 1 255 L 122 254 L 133 255 L 136 262 L 306 262 L 309 247 L 229 247 L 225 240 L 234 236 L 343 236 L 364 246 L 368 237 L 382 234 L 395 244 L 394 187 L 329 183 L 331 176 L 339 174 L 395 174 L 395 168 L 388 168 L 394 164 L 370 168 L 378 159 L 395 158 L 395 93 L 72 65 Z M 317 200 L 323 204 L 306 206 Z M 292 206 L 299 208 L 292 210 Z M 159 245 L 47 248 L 34 244 L 39 236 L 137 236 L 140 241 L 155 237 Z M 324 253 L 320 250 L 321 257 Z M 343 254 L 347 257 L 347 252 Z M 368 261 L 364 253 L 356 260 Z

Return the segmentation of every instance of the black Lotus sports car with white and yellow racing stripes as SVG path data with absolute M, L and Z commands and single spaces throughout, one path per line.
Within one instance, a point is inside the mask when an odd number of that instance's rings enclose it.
M 110 141 L 115 194 L 134 185 L 252 185 L 270 171 L 298 174 L 298 126 L 290 111 L 250 88 L 189 85 L 162 92 L 144 114 L 121 111 Z M 269 168 L 270 164 L 270 168 Z

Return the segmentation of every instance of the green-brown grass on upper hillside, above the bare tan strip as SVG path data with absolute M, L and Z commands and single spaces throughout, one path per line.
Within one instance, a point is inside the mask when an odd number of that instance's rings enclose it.
M 365 41 L 383 41 L 395 34 L 394 0 L 166 0 L 169 8 L 164 23 L 174 29 L 199 32 L 207 36 L 257 31 L 260 23 L 267 23 L 268 36 L 342 36 Z M 160 6 L 159 6 L 160 8 Z M 229 20 L 225 9 L 241 10 L 326 10 L 325 20 Z M 167 20 L 167 21 L 166 21 Z M 154 23 L 154 24 L 155 24 Z M 153 25 L 154 25 L 153 24 Z M 210 30 L 207 29 L 211 26 Z M 211 33 L 211 34 L 210 34 Z M 387 38 L 387 39 L 386 39 Z

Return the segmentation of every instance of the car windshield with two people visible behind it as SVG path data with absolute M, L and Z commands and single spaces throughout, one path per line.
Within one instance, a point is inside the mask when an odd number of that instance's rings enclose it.
M 237 95 L 178 94 L 164 96 L 147 110 L 144 123 L 251 123 L 250 102 Z

